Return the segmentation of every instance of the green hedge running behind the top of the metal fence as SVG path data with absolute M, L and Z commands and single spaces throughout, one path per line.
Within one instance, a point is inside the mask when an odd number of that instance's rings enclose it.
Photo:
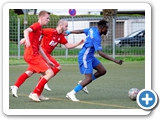
M 117 16 L 142 16 L 142 15 L 119 15 Z M 103 15 L 76 15 L 74 18 L 99 18 L 103 17 Z M 27 25 L 24 25 L 24 15 L 17 15 L 14 14 L 12 10 L 10 10 L 10 17 L 9 17 L 9 38 L 11 41 L 17 41 L 18 38 L 18 18 L 20 19 L 20 38 L 23 38 L 23 30 L 27 27 L 29 27 L 34 22 L 38 21 L 37 15 L 26 15 Z M 55 28 L 57 26 L 57 22 L 60 19 L 65 18 L 71 18 L 70 15 L 50 15 L 50 22 L 47 26 L 44 26 L 44 28 Z

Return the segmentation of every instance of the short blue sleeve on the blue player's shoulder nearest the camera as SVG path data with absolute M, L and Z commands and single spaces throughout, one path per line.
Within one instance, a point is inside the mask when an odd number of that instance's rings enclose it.
M 93 39 L 93 45 L 96 51 L 102 50 L 101 46 L 101 36 L 98 35 L 97 33 L 94 34 L 94 39 Z

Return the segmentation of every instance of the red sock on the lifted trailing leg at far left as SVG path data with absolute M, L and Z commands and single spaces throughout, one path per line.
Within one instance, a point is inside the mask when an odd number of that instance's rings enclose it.
M 21 74 L 14 85 L 19 88 L 28 77 L 26 73 Z

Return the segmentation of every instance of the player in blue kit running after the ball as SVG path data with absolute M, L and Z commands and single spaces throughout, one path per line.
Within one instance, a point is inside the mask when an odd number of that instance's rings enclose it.
M 85 86 L 90 84 L 93 80 L 103 76 L 106 74 L 106 69 L 101 64 L 101 62 L 94 57 L 95 51 L 97 53 L 110 61 L 113 61 L 119 65 L 123 63 L 122 60 L 115 60 L 112 57 L 109 57 L 102 51 L 101 46 L 101 35 L 106 35 L 108 31 L 108 22 L 105 20 L 100 20 L 98 22 L 98 27 L 91 27 L 83 30 L 74 30 L 74 31 L 67 31 L 67 34 L 80 34 L 85 33 L 86 40 L 85 43 L 78 54 L 78 63 L 80 73 L 85 75 L 84 80 L 78 84 L 72 91 L 66 94 L 66 98 L 71 101 L 79 101 L 75 94 L 81 91 Z M 96 72 L 93 74 L 93 69 Z

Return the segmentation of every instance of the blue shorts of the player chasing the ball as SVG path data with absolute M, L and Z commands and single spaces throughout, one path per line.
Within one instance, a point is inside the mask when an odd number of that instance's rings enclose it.
M 95 57 L 92 57 L 92 59 L 89 60 L 79 58 L 78 62 L 81 74 L 93 74 L 93 69 L 100 64 L 100 61 Z

